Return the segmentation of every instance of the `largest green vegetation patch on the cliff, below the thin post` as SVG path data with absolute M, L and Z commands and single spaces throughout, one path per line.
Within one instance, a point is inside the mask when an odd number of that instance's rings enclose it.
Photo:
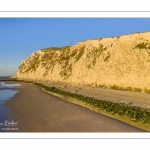
M 59 72 L 63 79 L 68 79 L 72 74 L 72 61 L 77 62 L 84 54 L 84 47 L 70 50 L 69 46 L 63 48 L 48 48 L 43 50 L 45 54 L 41 58 L 42 67 L 46 68 L 43 76 L 49 71 L 53 71 L 54 66 L 58 63 L 61 65 Z

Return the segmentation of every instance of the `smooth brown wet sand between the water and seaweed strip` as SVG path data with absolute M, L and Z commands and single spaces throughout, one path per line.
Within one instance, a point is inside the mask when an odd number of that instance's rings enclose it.
M 12 109 L 9 115 L 18 121 L 18 132 L 145 132 L 64 101 L 33 84 L 21 83 L 16 89 L 20 92 L 5 106 Z

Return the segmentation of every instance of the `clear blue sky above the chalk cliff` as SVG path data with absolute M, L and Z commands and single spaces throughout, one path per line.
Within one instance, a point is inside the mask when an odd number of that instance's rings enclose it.
M 0 18 L 0 76 L 42 48 L 149 30 L 150 18 Z

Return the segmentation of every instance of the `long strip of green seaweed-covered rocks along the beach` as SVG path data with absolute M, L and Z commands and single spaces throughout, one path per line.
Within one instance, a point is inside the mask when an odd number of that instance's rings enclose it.
M 140 107 L 131 106 L 130 104 L 122 104 L 122 103 L 98 100 L 92 97 L 87 97 L 87 96 L 83 96 L 83 95 L 76 94 L 76 93 L 66 92 L 57 88 L 47 87 L 40 83 L 36 83 L 36 85 L 41 86 L 45 90 L 53 92 L 53 93 L 76 98 L 77 100 L 83 101 L 98 109 L 105 110 L 106 112 L 110 114 L 118 115 L 123 118 L 128 118 L 134 122 L 142 122 L 143 124 L 150 124 L 150 110 L 149 109 L 143 109 Z

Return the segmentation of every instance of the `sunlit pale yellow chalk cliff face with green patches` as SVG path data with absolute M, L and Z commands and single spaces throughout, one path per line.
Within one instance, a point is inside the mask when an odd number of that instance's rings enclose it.
M 16 77 L 150 89 L 150 32 L 38 50 L 22 61 Z

